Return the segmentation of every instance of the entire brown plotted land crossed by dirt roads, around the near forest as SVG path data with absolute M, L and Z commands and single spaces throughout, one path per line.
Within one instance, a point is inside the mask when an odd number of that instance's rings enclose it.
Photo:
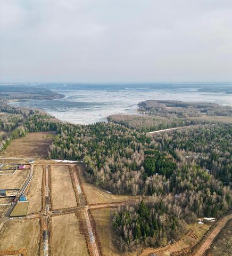
M 5 157 L 0 163 L 0 256 L 200 256 L 232 218 L 198 220 L 165 247 L 121 253 L 114 243 L 113 214 L 140 197 L 114 195 L 88 183 L 80 162 Z

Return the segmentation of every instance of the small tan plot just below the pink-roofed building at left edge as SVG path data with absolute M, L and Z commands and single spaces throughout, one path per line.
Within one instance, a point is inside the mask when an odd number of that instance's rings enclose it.
M 13 175 L 0 175 L 0 188 L 21 188 L 29 177 L 29 170 L 17 170 Z

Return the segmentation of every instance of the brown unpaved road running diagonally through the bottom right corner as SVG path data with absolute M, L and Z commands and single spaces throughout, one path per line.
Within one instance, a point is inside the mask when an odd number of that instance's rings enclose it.
M 213 243 L 213 239 L 216 238 L 216 236 L 220 233 L 223 227 L 225 227 L 227 221 L 232 218 L 232 214 L 227 215 L 224 217 L 221 221 L 218 222 L 218 225 L 216 228 L 214 228 L 209 236 L 206 238 L 204 243 L 201 245 L 199 250 L 194 254 L 194 256 L 202 256 L 205 251 L 210 247 L 210 245 Z

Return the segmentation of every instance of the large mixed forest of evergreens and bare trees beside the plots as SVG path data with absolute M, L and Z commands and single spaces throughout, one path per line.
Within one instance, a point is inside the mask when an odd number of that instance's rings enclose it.
M 49 158 L 84 161 L 89 182 L 143 198 L 114 215 L 122 251 L 165 245 L 185 232 L 186 223 L 231 209 L 232 124 L 203 123 L 152 136 L 112 122 L 75 125 L 36 110 L 7 111 L 25 117 L 24 133 L 56 131 Z

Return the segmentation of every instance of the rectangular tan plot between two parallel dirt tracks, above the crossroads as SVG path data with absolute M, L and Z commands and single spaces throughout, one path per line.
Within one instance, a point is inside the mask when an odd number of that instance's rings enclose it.
M 63 209 L 77 206 L 69 166 L 51 166 L 51 183 L 53 209 Z

